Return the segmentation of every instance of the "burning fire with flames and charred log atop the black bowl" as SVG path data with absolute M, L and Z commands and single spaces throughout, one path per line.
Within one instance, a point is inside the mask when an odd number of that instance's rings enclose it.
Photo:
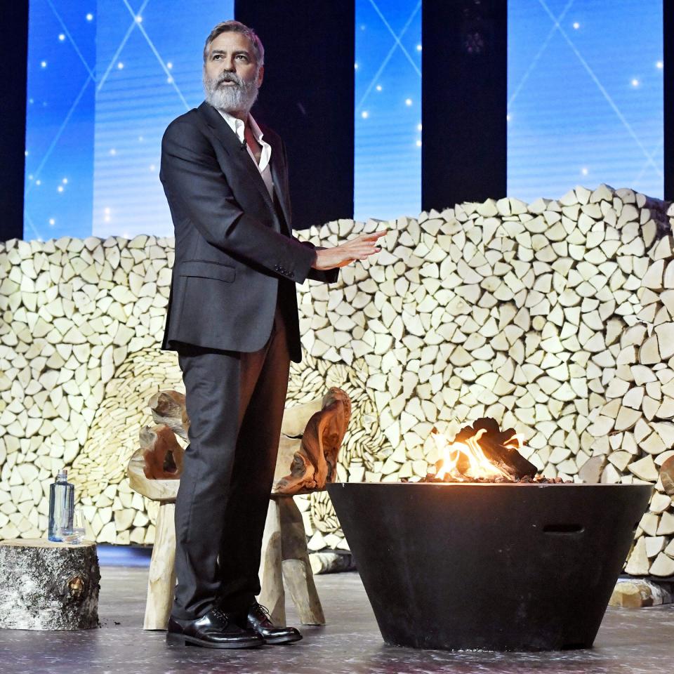
M 489 428 L 484 428 L 485 422 L 488 422 Z M 479 420 L 474 428 L 463 428 L 454 442 L 449 442 L 435 428 L 432 430 L 432 438 L 440 454 L 440 460 L 435 464 L 435 481 L 501 482 L 515 481 L 524 475 L 535 474 L 535 466 L 518 451 L 524 445 L 522 434 L 513 429 L 501 432 L 493 419 Z

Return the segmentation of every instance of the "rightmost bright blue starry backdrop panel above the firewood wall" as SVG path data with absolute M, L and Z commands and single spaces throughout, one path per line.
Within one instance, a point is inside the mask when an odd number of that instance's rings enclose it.
M 663 196 L 662 0 L 510 0 L 508 194 Z

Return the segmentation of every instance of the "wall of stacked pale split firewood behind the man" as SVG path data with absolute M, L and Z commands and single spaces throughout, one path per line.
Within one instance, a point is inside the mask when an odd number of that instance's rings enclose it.
M 298 289 L 306 357 L 288 404 L 329 385 L 352 397 L 339 479 L 422 477 L 434 426 L 451 435 L 493 416 L 524 434 L 543 475 L 656 484 L 628 569 L 672 574 L 674 510 L 658 482 L 674 454 L 666 204 L 577 187 L 300 237 L 381 227 L 376 261 Z M 48 483 L 67 465 L 98 541 L 153 541 L 156 511 L 124 468 L 152 392 L 183 390 L 159 350 L 172 264 L 173 239 L 152 236 L 0 244 L 1 537 L 44 534 Z M 298 501 L 310 548 L 345 547 L 326 494 Z

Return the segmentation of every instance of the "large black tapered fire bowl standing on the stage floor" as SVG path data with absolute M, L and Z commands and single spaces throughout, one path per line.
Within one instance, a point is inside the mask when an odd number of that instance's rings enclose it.
M 328 491 L 387 644 L 546 651 L 592 646 L 652 487 Z

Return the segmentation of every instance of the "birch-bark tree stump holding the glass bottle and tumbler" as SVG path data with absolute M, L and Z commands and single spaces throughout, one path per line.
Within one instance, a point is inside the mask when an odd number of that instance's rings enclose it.
M 96 544 L 42 538 L 0 541 L 0 628 L 88 630 L 98 627 Z

